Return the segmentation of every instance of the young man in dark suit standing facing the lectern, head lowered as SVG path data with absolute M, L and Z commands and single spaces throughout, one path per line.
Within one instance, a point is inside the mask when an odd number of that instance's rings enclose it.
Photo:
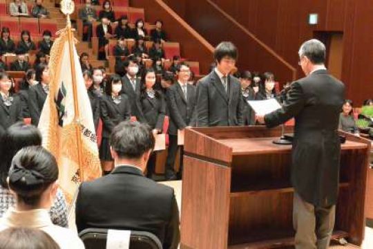
M 198 127 L 243 125 L 243 100 L 240 81 L 230 75 L 237 49 L 231 42 L 216 47 L 216 68 L 200 80 L 197 86 Z

